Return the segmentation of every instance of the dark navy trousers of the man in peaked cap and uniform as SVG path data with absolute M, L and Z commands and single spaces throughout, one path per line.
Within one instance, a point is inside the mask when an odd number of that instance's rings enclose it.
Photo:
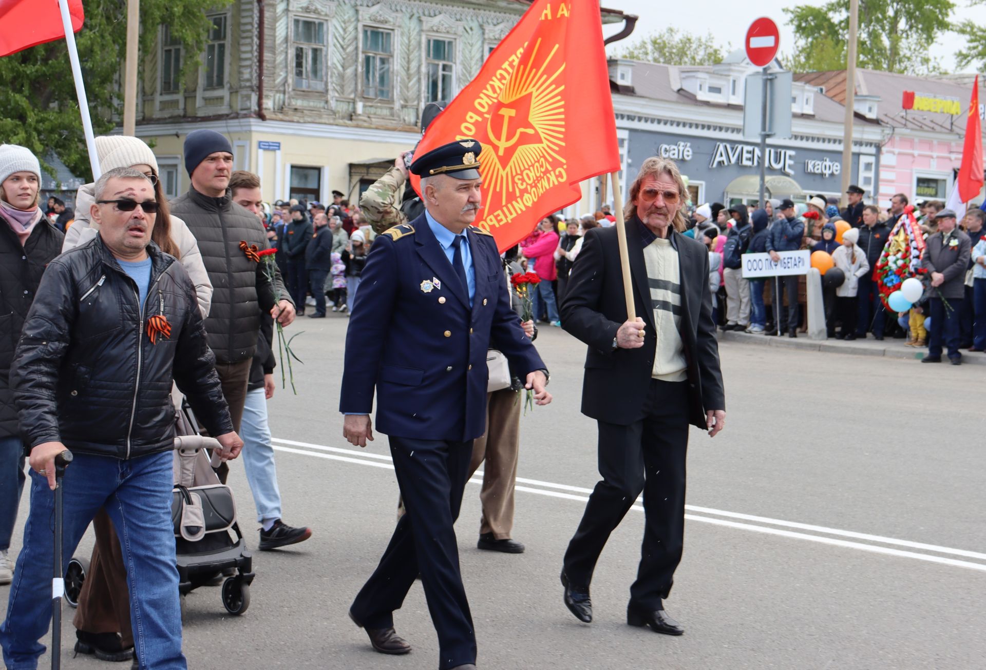
M 438 633 L 439 669 L 475 663 L 476 636 L 453 528 L 469 475 L 472 440 L 389 439 L 406 512 L 380 565 L 356 596 L 352 614 L 366 628 L 392 627 L 393 611 L 400 609 L 420 572 Z

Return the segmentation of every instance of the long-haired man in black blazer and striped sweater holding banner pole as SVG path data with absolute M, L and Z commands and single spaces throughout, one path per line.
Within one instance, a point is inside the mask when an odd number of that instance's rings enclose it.
M 561 305 L 565 330 L 589 345 L 582 412 L 599 422 L 599 474 L 561 573 L 565 604 L 593 619 L 589 584 L 609 533 L 644 492 L 646 526 L 627 623 L 683 630 L 664 611 L 684 531 L 688 426 L 726 425 L 705 246 L 685 237 L 678 168 L 648 159 L 626 222 L 635 311 L 627 319 L 615 227 L 589 231 Z

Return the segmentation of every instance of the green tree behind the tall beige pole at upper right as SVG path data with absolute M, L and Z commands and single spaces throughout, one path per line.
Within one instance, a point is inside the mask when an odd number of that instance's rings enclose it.
M 951 0 L 860 0 L 858 59 L 860 67 L 907 74 L 937 74 L 939 62 L 928 49 L 949 29 Z M 794 29 L 795 51 L 787 56 L 797 71 L 835 70 L 848 58 L 849 0 L 819 7 L 785 9 Z

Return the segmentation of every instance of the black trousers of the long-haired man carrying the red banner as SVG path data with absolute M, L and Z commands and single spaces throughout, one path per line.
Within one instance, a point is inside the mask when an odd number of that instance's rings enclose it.
M 686 382 L 651 380 L 644 416 L 629 426 L 599 422 L 599 474 L 565 552 L 571 583 L 589 585 L 609 534 L 644 492 L 644 543 L 630 602 L 661 609 L 681 562 L 684 541 Z

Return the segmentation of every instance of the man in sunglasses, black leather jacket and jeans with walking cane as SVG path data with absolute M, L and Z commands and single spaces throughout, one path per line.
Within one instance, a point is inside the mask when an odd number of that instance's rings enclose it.
M 181 618 L 171 518 L 173 379 L 223 458 L 243 441 L 206 343 L 191 280 L 151 241 L 154 187 L 130 167 L 96 184 L 100 234 L 52 260 L 37 289 L 11 370 L 30 449 L 31 516 L 7 620 L 7 667 L 36 667 L 48 630 L 53 569 L 54 458 L 75 458 L 64 480 L 64 552 L 71 556 L 106 506 L 127 563 L 141 667 L 180 670 Z

